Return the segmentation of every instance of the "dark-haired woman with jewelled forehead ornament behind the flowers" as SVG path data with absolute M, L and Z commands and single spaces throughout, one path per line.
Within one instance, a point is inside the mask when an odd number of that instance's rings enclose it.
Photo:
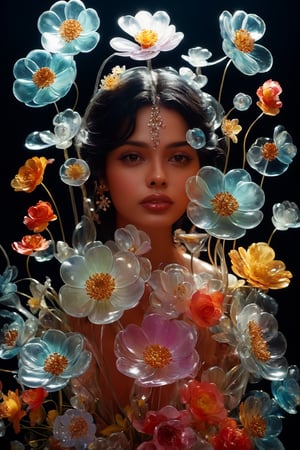
M 110 242 L 116 229 L 134 225 L 150 238 L 151 249 L 145 256 L 152 270 L 168 264 L 191 269 L 191 257 L 174 243 L 173 233 L 178 228 L 185 232 L 192 228 L 185 214 L 185 183 L 202 164 L 216 161 L 219 151 L 214 130 L 221 115 L 222 109 L 212 97 L 200 94 L 170 69 L 133 68 L 121 75 L 113 89 L 98 91 L 87 108 L 78 139 L 92 171 L 88 191 L 95 196 L 102 242 Z M 205 146 L 199 151 L 186 141 L 192 128 L 205 134 Z M 200 259 L 194 270 L 216 273 Z M 102 326 L 87 318 L 70 318 L 72 329 L 88 338 L 100 367 L 96 375 L 94 367 L 84 375 L 83 385 L 89 385 L 99 399 L 97 408 L 107 425 L 116 412 L 124 413 L 135 395 L 133 379 L 116 368 L 115 337 L 129 324 L 140 325 L 150 311 L 150 286 L 151 279 L 138 304 L 117 322 Z M 213 364 L 215 343 L 206 331 L 199 333 L 199 339 L 201 360 Z M 170 403 L 175 387 L 173 383 L 154 389 L 148 406 L 159 409 Z

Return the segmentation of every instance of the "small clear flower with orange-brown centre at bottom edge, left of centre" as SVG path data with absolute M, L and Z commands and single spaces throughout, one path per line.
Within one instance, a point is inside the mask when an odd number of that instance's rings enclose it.
M 88 448 L 95 441 L 96 425 L 92 415 L 79 409 L 67 409 L 53 423 L 53 436 L 65 447 Z

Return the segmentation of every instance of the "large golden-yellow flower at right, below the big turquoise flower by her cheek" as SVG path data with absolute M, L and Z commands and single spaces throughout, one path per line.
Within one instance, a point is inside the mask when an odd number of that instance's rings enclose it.
M 293 277 L 282 261 L 274 259 L 274 250 L 265 242 L 251 244 L 247 250 L 239 247 L 228 254 L 233 272 L 257 288 L 282 289 Z

